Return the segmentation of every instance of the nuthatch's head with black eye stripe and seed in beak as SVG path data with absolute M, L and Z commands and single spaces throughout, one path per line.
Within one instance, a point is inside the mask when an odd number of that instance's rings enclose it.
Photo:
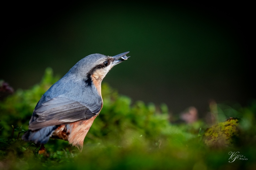
M 88 84 L 93 82 L 94 85 L 100 85 L 103 78 L 113 66 L 122 63 L 130 57 L 126 56 L 128 53 L 125 52 L 113 57 L 102 54 L 88 55 L 77 62 L 69 72 L 75 74 L 78 78 L 82 78 Z

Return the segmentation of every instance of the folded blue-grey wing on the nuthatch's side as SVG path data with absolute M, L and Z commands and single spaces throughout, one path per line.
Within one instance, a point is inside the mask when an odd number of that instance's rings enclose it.
M 53 98 L 36 106 L 28 129 L 36 130 L 52 125 L 87 120 L 97 115 L 100 109 L 101 103 L 84 106 L 68 98 Z

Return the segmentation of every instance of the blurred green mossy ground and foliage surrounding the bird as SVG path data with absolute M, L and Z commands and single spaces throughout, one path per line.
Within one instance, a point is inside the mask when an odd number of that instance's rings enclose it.
M 0 169 L 254 169 L 256 102 L 249 107 L 212 103 L 213 126 L 203 120 L 170 123 L 165 104 L 132 101 L 102 83 L 103 108 L 83 152 L 67 141 L 36 146 L 20 139 L 36 103 L 59 78 L 47 68 L 40 84 L 0 102 Z M 230 118 L 233 117 L 233 118 Z M 248 160 L 229 163 L 229 152 Z

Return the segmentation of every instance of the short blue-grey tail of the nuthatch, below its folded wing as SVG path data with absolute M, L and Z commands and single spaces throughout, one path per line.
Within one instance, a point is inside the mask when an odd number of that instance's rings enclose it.
M 28 130 L 22 135 L 21 139 L 35 144 L 46 144 L 55 129 L 57 129 L 57 126 L 48 126 L 34 131 Z

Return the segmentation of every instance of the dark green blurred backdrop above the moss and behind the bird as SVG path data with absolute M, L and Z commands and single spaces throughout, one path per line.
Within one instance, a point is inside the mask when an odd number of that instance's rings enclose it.
M 248 4 L 6 4 L 0 79 L 14 89 L 62 77 L 83 57 L 130 51 L 104 82 L 178 114 L 255 98 Z

